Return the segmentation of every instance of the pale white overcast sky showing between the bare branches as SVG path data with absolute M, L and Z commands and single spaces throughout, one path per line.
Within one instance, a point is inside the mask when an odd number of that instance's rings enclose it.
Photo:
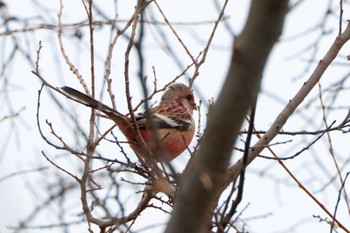
M 130 17 L 130 14 L 133 12 L 134 2 L 135 1 L 120 1 L 120 9 L 118 9 L 120 19 L 127 19 Z M 222 1 L 220 2 L 222 3 Z M 35 4 L 29 0 L 11 0 L 6 1 L 5 3 L 8 5 L 11 15 L 21 17 L 22 19 L 25 17 L 37 16 L 38 12 L 40 12 Z M 51 1 L 50 4 L 45 3 L 47 4 L 47 10 L 52 13 L 50 13 L 49 17 L 42 15 L 42 17 L 48 22 L 56 22 L 58 3 L 58 1 Z M 230 17 L 228 22 L 236 34 L 239 33 L 245 20 L 248 3 L 248 1 L 231 1 L 229 3 L 226 15 Z M 217 17 L 217 12 L 213 10 L 213 3 L 209 0 L 201 1 L 200 6 L 198 1 L 183 0 L 160 0 L 159 4 L 170 22 L 198 22 L 214 20 Z M 110 8 L 110 5 L 113 5 L 113 1 L 105 0 L 103 6 L 100 7 L 110 14 L 110 17 L 113 17 L 115 9 L 113 9 L 113 7 Z M 304 32 L 310 27 L 315 26 L 317 23 L 320 23 L 324 17 L 327 5 L 328 1 L 303 1 L 295 11 L 292 11 L 292 13 L 288 15 L 282 39 L 290 38 L 291 36 Z M 85 19 L 81 1 L 66 0 L 64 1 L 64 6 L 64 23 L 80 22 Z M 336 6 L 336 4 L 334 4 L 334 6 Z M 156 9 L 152 7 L 152 10 L 155 12 Z M 346 5 L 344 9 L 344 19 L 349 18 L 349 10 L 350 9 L 348 9 L 348 6 Z M 158 20 L 161 20 L 159 14 L 157 15 Z M 317 60 L 325 54 L 337 34 L 338 23 L 336 17 L 336 15 L 331 16 L 326 23 L 326 30 L 330 32 L 330 35 L 329 37 L 322 39 L 320 42 L 320 48 L 315 55 Z M 37 23 L 39 22 L 40 21 L 37 20 Z M 14 28 L 17 27 L 16 23 L 11 23 L 11 26 Z M 193 33 L 195 33 L 195 35 L 201 40 L 206 41 L 212 26 L 213 25 L 211 24 L 204 26 L 188 25 L 181 27 L 177 25 L 175 28 L 185 44 L 190 48 L 191 52 L 194 55 L 197 55 L 199 51 L 203 49 L 204 44 L 199 43 L 198 40 L 194 40 Z M 3 29 L 3 27 L 0 28 Z M 154 36 L 155 33 L 151 31 L 152 28 L 150 27 L 147 29 L 150 31 L 147 31 L 145 41 L 145 71 L 147 76 L 152 78 L 152 66 L 154 66 L 157 78 L 159 79 L 159 86 L 161 86 L 161 84 L 174 78 L 181 71 L 176 67 L 173 60 L 164 52 L 164 50 L 156 46 L 158 41 Z M 108 30 L 96 29 L 95 31 L 97 58 L 102 59 L 97 59 L 96 61 L 96 74 L 99 77 L 103 76 L 103 59 L 105 58 L 106 48 L 108 46 L 107 43 L 109 41 L 109 35 L 106 34 L 106 31 Z M 0 33 L 1 32 L 2 31 L 0 31 Z M 69 34 L 71 31 L 66 30 L 65 33 Z M 309 43 L 319 36 L 318 32 L 310 34 L 304 33 L 304 35 L 305 36 L 299 37 L 295 40 L 287 40 L 279 43 L 275 47 L 264 72 L 262 90 L 265 94 L 259 98 L 260 104 L 257 110 L 256 128 L 265 130 L 269 127 L 277 114 L 281 111 L 283 103 L 286 103 L 293 97 L 298 88 L 306 80 L 307 75 L 310 74 L 313 67 L 316 65 L 316 62 L 312 63 L 311 69 L 307 71 L 304 76 L 301 76 L 299 79 L 293 79 L 303 72 L 307 66 L 306 61 L 312 57 L 311 51 L 293 59 L 291 59 L 290 56 L 302 51 L 307 45 L 309 45 Z M 30 55 L 33 57 L 35 57 L 38 41 L 42 41 L 44 47 L 41 53 L 40 67 L 42 74 L 48 81 L 50 81 L 50 83 L 54 86 L 68 85 L 80 88 L 76 78 L 69 72 L 68 67 L 65 65 L 62 56 L 55 56 L 56 52 L 58 52 L 57 35 L 55 31 L 43 30 L 35 35 L 27 33 L 26 36 L 28 42 L 25 40 L 25 37 L 20 37 L 22 40 L 20 42 L 30 47 L 28 50 L 31 51 Z M 84 31 L 84 36 L 87 39 L 86 30 Z M 213 46 L 210 49 L 206 63 L 201 67 L 200 76 L 195 82 L 195 88 L 200 91 L 201 96 L 203 97 L 202 101 L 204 102 L 211 97 L 214 97 L 215 99 L 218 95 L 231 56 L 231 41 L 231 35 L 226 31 L 223 25 L 221 25 L 214 38 Z M 87 51 L 87 42 L 85 41 L 79 44 L 75 43 L 75 41 L 72 42 L 65 40 L 64 43 L 72 61 L 79 67 L 81 74 L 84 77 L 89 77 L 89 53 Z M 182 62 L 187 65 L 189 59 L 183 48 L 179 46 L 176 40 L 171 41 L 171 44 L 173 48 L 176 49 L 176 53 L 183 58 Z M 0 37 L 0 56 L 8 54 L 10 52 L 8 50 L 9 48 L 11 48 L 10 38 Z M 4 52 L 1 52 L 1 50 Z M 115 93 L 123 93 L 124 90 L 122 85 L 124 82 L 122 78 L 124 51 L 125 41 L 118 44 L 113 59 L 112 77 Z M 343 55 L 347 55 L 349 46 L 345 46 L 342 51 Z M 77 54 L 79 54 L 79 56 Z M 0 63 L 2 63 L 2 59 L 3 57 L 0 57 Z M 4 145 L 8 143 L 4 154 L 0 155 L 0 179 L 1 177 L 13 172 L 41 166 L 47 167 L 47 174 L 52 175 L 54 174 L 53 171 L 55 171 L 55 168 L 53 168 L 41 156 L 40 151 L 44 150 L 52 158 L 60 155 L 61 152 L 57 152 L 48 147 L 38 134 L 36 125 L 36 103 L 37 91 L 40 87 L 40 83 L 37 78 L 31 74 L 33 68 L 28 66 L 21 57 L 17 57 L 16 59 L 16 63 L 8 68 L 6 74 L 10 77 L 9 93 L 11 94 L 11 101 L 14 109 L 17 110 L 25 107 L 25 110 L 21 113 L 19 118 L 15 119 L 17 130 L 15 132 L 12 131 L 10 123 L 0 122 L 0 148 L 5 148 Z M 342 58 L 337 59 L 337 61 L 345 63 L 345 59 Z M 130 62 L 131 68 L 137 67 L 135 59 L 131 59 Z M 346 68 L 342 67 L 329 70 L 322 79 L 322 86 L 327 86 L 327 84 L 334 82 L 334 80 L 340 79 L 346 72 Z M 131 69 L 131 76 L 135 76 L 135 79 L 131 80 L 134 103 L 137 103 L 137 100 L 142 98 L 142 95 L 138 94 L 139 85 L 136 75 L 136 70 Z M 188 75 L 192 75 L 191 70 Z M 1 79 L 3 79 L 3 77 L 0 77 L 0 80 Z M 184 79 L 181 81 L 185 82 Z M 266 93 L 278 96 L 282 101 L 282 104 L 270 98 Z M 313 91 L 313 96 L 317 96 L 317 93 L 317 89 L 315 89 Z M 344 102 L 343 106 L 347 106 L 347 103 L 344 101 L 346 100 L 346 97 L 348 97 L 347 95 L 347 93 L 341 95 L 342 99 L 338 100 L 340 102 L 339 105 Z M 59 115 L 60 110 L 57 110 L 47 97 L 47 92 L 45 92 L 41 101 L 41 119 L 42 121 L 49 119 L 53 122 L 57 132 L 63 134 L 66 132 L 67 128 L 70 127 L 71 123 L 64 122 L 64 119 Z M 64 98 L 59 98 L 60 100 L 64 100 Z M 116 98 L 119 111 L 125 112 L 127 108 L 124 95 L 117 95 Z M 157 96 L 157 98 L 159 98 L 159 96 Z M 199 97 L 197 97 L 197 99 L 198 98 Z M 108 101 L 107 98 L 105 99 Z M 0 103 L 3 101 L 5 101 L 4 97 L 0 94 Z M 86 115 L 89 113 L 84 107 L 77 106 L 68 101 L 66 103 L 68 107 L 77 110 L 76 114 Z M 109 104 L 110 102 L 107 103 Z M 329 121 L 337 120 L 337 122 L 340 122 L 346 115 L 346 111 L 347 109 L 344 109 L 330 114 Z M 2 112 L 7 112 L 7 107 L 5 105 L 3 107 L 0 106 L 0 117 L 3 115 Z M 310 109 L 309 112 L 306 112 L 306 116 L 296 115 L 287 123 L 285 129 L 294 131 L 302 130 L 303 127 L 309 130 L 323 128 L 321 127 L 321 116 L 312 114 L 319 114 L 319 112 L 314 108 L 313 110 Z M 202 115 L 204 116 L 205 113 L 203 112 Z M 310 119 L 311 122 L 309 125 L 306 125 L 304 117 Z M 88 125 L 87 119 L 86 116 L 81 116 L 81 121 L 86 121 L 86 125 Z M 105 126 L 108 125 L 108 123 L 103 122 L 102 120 L 101 125 Z M 42 124 L 42 126 L 44 127 L 44 124 Z M 47 128 L 45 128 L 45 132 L 49 135 Z M 344 134 L 341 133 L 334 133 L 332 135 L 334 136 L 333 142 L 334 148 L 336 148 L 336 153 L 339 154 L 340 158 L 345 160 L 349 156 L 348 148 L 346 146 L 344 147 L 347 142 L 346 135 L 344 136 Z M 66 137 L 70 137 L 72 142 L 75 140 L 73 134 L 67 134 Z M 284 139 L 285 138 L 283 137 L 279 137 L 276 141 L 282 141 Z M 314 138 L 288 137 L 286 139 L 293 139 L 296 142 L 310 142 Z M 296 142 L 290 145 L 282 144 L 276 146 L 275 149 L 281 153 L 280 156 L 290 156 L 302 148 L 302 145 L 297 144 Z M 298 147 L 295 148 L 295 145 L 298 145 Z M 330 179 L 329 176 L 335 175 L 334 166 L 329 157 L 328 147 L 322 141 L 318 142 L 316 146 L 317 148 L 310 150 L 309 153 L 300 156 L 293 161 L 286 162 L 298 178 L 301 178 L 312 191 L 321 188 L 323 184 Z M 106 148 L 106 150 L 108 150 L 108 148 Z M 264 151 L 263 154 L 269 155 L 266 151 Z M 327 170 L 322 171 L 319 164 L 315 164 L 315 156 L 321 157 L 322 163 L 329 165 L 327 166 Z M 174 165 L 178 170 L 181 170 L 185 166 L 187 160 L 187 155 L 182 155 L 174 161 Z M 74 160 L 64 161 L 61 159 L 59 161 L 62 165 L 68 168 L 70 166 L 74 167 L 74 164 L 76 163 Z M 349 168 L 344 169 L 344 174 L 347 170 L 349 170 Z M 262 171 L 265 173 L 262 173 Z M 328 225 L 325 223 L 318 223 L 317 219 L 312 217 L 313 215 L 320 215 L 322 218 L 325 218 L 325 213 L 290 180 L 286 172 L 281 169 L 277 162 L 257 159 L 251 166 L 249 166 L 248 172 L 249 175 L 246 178 L 244 191 L 245 196 L 240 207 L 242 210 L 246 205 L 249 204 L 249 206 L 244 211 L 242 218 L 249 219 L 268 215 L 264 218 L 247 220 L 249 223 L 249 232 L 329 232 Z M 48 180 L 54 178 L 55 177 L 47 177 Z M 28 184 L 37 184 L 38 186 L 42 185 L 40 184 L 41 179 L 42 178 L 34 174 L 27 174 L 25 176 L 16 176 L 0 182 L 0 190 L 2 190 L 0 191 L 0 233 L 12 232 L 7 226 L 14 226 L 18 224 L 20 220 L 28 217 L 33 205 L 38 201 L 42 201 L 46 197 L 46 194 L 40 193 L 39 190 L 36 190 L 37 188 L 35 186 L 32 186 L 31 188 L 35 190 L 34 193 L 36 193 L 37 196 L 30 195 L 31 192 L 28 192 L 26 189 Z M 331 212 L 333 212 L 334 209 L 338 189 L 339 186 L 331 186 L 326 191 L 316 194 L 317 198 L 319 198 L 319 200 L 322 201 Z M 72 194 L 72 198 L 77 198 L 77 194 Z M 72 201 L 72 203 L 74 202 Z M 340 205 L 340 210 L 337 216 L 345 225 L 350 226 L 349 214 L 346 213 L 344 206 L 344 203 Z M 57 209 L 55 209 L 55 211 L 57 211 Z M 149 217 L 154 219 L 154 214 L 157 214 L 156 216 L 158 216 L 159 212 L 154 211 L 154 213 L 151 213 L 150 215 L 143 214 L 142 218 L 145 218 L 145 221 L 148 221 Z M 139 220 L 140 222 L 142 222 L 142 218 Z M 50 214 L 46 214 L 40 216 L 39 219 L 42 219 L 43 224 L 45 225 L 49 224 L 51 222 L 50 220 L 53 220 L 53 217 L 50 216 Z M 165 222 L 162 218 L 160 218 L 159 221 Z M 299 227 L 295 230 L 289 229 L 295 225 L 299 225 Z M 138 225 L 139 228 L 141 226 L 142 224 Z M 145 230 L 143 232 L 162 232 L 161 230 L 162 228 L 151 228 L 150 230 Z M 28 232 L 37 231 L 33 230 Z M 43 230 L 43 232 L 48 231 Z M 51 230 L 50 232 L 59 231 Z

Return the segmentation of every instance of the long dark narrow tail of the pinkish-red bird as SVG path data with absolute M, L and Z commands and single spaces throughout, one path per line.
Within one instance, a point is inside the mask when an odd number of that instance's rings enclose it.
M 67 87 L 67 86 L 61 87 L 61 90 L 63 90 L 66 94 L 68 94 L 68 96 L 74 101 L 80 104 L 83 104 L 85 106 L 88 106 L 90 108 L 99 110 L 105 113 L 110 118 L 112 118 L 112 120 L 114 121 L 116 120 L 125 121 L 127 119 L 123 114 L 119 113 L 113 108 L 110 108 L 107 105 L 101 103 L 100 101 L 97 101 L 94 98 L 91 98 L 90 96 L 87 96 L 84 93 L 77 91 L 71 87 Z

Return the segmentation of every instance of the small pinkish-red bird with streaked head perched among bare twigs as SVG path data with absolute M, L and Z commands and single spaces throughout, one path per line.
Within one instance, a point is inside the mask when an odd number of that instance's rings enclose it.
M 73 88 L 65 86 L 61 89 L 73 100 L 106 114 L 117 124 L 134 152 L 143 158 L 154 156 L 157 161 L 173 160 L 186 150 L 193 139 L 195 122 L 192 114 L 193 110 L 197 110 L 197 105 L 192 90 L 184 84 L 171 84 L 161 97 L 159 105 L 149 109 L 148 118 L 147 114 L 135 118 L 148 148 L 137 140 L 133 128 L 135 124 L 130 117 Z M 160 143 L 167 153 L 161 153 Z

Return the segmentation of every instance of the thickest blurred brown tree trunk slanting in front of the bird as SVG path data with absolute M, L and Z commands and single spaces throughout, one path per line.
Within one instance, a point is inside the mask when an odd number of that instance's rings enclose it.
M 203 232 L 209 226 L 212 200 L 225 179 L 233 144 L 258 93 L 267 57 L 281 34 L 287 6 L 286 0 L 252 2 L 245 28 L 235 40 L 231 66 L 201 146 L 182 176 L 167 233 Z

